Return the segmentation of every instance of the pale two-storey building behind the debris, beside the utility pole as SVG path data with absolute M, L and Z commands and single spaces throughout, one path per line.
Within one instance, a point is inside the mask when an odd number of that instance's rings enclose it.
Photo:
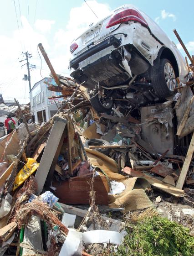
M 63 98 L 51 99 L 51 97 L 61 96 L 61 92 L 48 90 L 48 85 L 44 82 L 57 86 L 53 78 L 43 78 L 37 82 L 30 91 L 32 121 L 43 123 L 56 114 L 60 102 Z M 49 99 L 48 99 L 49 98 Z M 34 119 L 34 120 L 33 120 Z

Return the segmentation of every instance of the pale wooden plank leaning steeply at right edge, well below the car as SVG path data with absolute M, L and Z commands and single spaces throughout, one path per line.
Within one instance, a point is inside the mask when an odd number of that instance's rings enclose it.
M 187 155 L 185 157 L 184 164 L 183 164 L 182 170 L 180 172 L 178 182 L 176 184 L 176 188 L 180 188 L 180 189 L 183 188 L 184 181 L 185 181 L 185 178 L 187 176 L 187 172 L 188 172 L 188 169 L 189 169 L 189 165 L 190 165 L 193 153 L 194 153 L 194 133 L 193 133 L 193 136 L 191 138 L 189 149 L 188 149 Z

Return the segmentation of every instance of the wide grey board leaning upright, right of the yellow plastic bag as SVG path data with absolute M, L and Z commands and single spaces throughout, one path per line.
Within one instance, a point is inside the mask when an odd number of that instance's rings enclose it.
M 46 143 L 44 153 L 41 157 L 40 165 L 36 171 L 35 178 L 38 183 L 37 195 L 40 195 L 44 187 L 47 175 L 49 173 L 53 159 L 56 155 L 56 151 L 61 141 L 61 137 L 63 135 L 66 122 L 67 122 L 65 119 L 63 120 L 64 121 L 62 120 L 54 121 L 54 125 L 52 126 L 51 133 L 48 137 L 48 141 Z

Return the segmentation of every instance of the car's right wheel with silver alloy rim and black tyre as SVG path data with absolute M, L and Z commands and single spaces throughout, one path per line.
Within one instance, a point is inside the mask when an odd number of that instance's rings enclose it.
M 159 68 L 152 68 L 151 81 L 153 90 L 160 99 L 164 99 L 174 94 L 176 75 L 173 65 L 168 59 L 160 59 Z

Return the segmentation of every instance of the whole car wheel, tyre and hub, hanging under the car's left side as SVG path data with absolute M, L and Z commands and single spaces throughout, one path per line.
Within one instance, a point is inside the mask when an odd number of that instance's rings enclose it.
M 107 99 L 106 96 L 102 94 L 102 91 L 99 91 L 99 93 L 97 94 L 97 89 L 95 89 L 93 93 L 90 94 L 90 98 L 90 103 L 97 112 L 104 113 L 112 109 L 113 100 L 111 100 L 110 98 Z

